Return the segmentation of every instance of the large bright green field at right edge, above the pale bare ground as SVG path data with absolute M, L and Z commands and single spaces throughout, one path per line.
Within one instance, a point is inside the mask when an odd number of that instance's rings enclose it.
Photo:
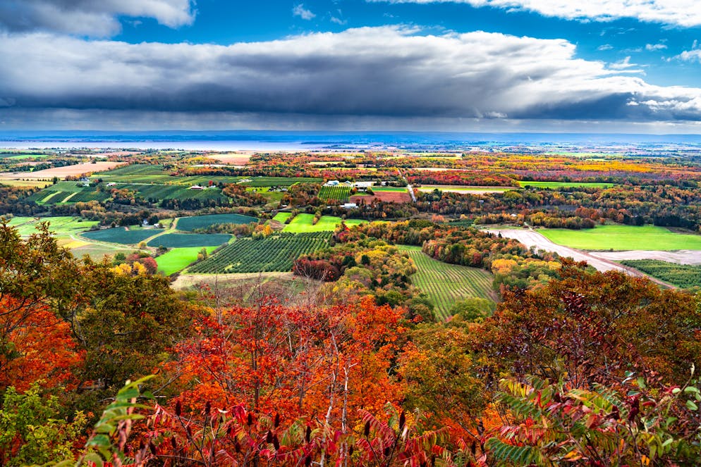
M 540 229 L 556 244 L 583 250 L 700 250 L 701 235 L 678 234 L 657 225 L 597 225 L 593 229 Z

